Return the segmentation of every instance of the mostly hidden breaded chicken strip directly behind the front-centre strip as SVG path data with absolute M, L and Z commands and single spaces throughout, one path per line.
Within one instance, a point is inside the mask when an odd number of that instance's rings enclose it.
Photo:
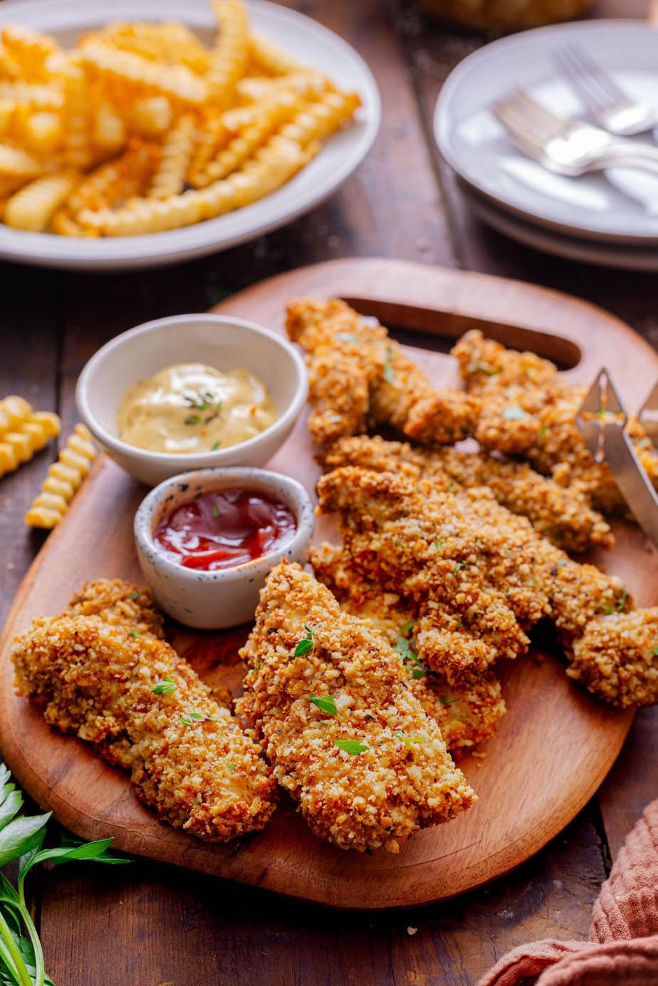
M 413 650 L 416 612 L 395 593 L 383 593 L 349 568 L 342 549 L 330 544 L 311 549 L 316 578 L 326 585 L 346 612 L 367 619 L 400 654 L 407 683 L 428 716 L 438 723 L 453 756 L 490 740 L 505 714 L 500 683 L 492 671 L 474 675 L 460 688 L 444 674 L 427 668 Z

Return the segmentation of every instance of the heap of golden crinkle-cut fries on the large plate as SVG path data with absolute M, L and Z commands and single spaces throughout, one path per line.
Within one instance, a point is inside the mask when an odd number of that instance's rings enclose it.
M 290 180 L 359 99 L 210 0 L 211 45 L 177 22 L 116 22 L 71 50 L 0 31 L 0 217 L 69 237 L 175 230 Z M 303 55 L 303 52 L 301 53 Z

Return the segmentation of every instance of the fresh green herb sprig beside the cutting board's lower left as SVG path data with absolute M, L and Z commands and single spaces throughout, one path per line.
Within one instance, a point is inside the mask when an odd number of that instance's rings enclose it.
M 25 898 L 25 881 L 31 870 L 46 860 L 55 866 L 70 860 L 90 860 L 110 865 L 130 860 L 110 856 L 111 839 L 76 842 L 62 839 L 54 849 L 41 849 L 50 811 L 20 814 L 23 795 L 0 764 L 0 867 L 18 861 L 16 886 L 0 875 L 0 983 L 2 986 L 54 986 L 46 975 L 37 928 Z M 25 934 L 27 932 L 27 935 Z

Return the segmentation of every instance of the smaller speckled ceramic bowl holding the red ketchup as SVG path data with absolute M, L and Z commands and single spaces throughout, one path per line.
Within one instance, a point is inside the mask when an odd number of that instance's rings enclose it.
M 172 561 L 153 538 L 164 515 L 198 493 L 234 486 L 284 503 L 297 521 L 292 537 L 262 558 L 216 572 L 183 568 Z M 160 606 L 186 626 L 221 630 L 254 617 L 267 574 L 282 558 L 306 562 L 314 521 L 311 498 L 296 479 L 267 469 L 199 469 L 167 479 L 142 500 L 135 514 L 135 544 L 144 578 Z

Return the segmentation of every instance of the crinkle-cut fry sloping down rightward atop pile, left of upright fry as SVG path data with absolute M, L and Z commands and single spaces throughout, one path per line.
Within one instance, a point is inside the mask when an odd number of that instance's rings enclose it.
M 161 65 L 130 51 L 120 51 L 106 41 L 83 41 L 81 57 L 89 71 L 128 90 L 168 96 L 186 106 L 200 106 L 208 96 L 204 79 L 183 65 Z

